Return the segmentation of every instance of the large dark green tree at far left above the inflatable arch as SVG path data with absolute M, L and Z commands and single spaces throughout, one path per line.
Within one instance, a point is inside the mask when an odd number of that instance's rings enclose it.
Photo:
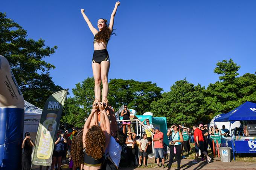
M 0 12 L 0 54 L 8 59 L 24 99 L 43 108 L 52 93 L 62 90 L 50 77 L 49 71 L 55 66 L 43 60 L 57 47 L 45 46 L 43 39 L 26 37 L 26 30 Z

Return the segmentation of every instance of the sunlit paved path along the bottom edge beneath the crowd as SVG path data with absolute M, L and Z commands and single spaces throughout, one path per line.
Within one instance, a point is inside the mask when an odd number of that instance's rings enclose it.
M 206 169 L 206 170 L 256 170 L 256 162 L 239 162 L 239 161 L 231 161 L 231 162 L 221 162 L 213 160 L 209 164 L 206 161 L 198 162 L 197 164 L 193 164 L 190 161 L 192 159 L 182 159 L 181 160 L 181 170 L 198 170 L 198 169 Z M 166 165 L 168 165 L 168 161 L 166 161 Z M 167 170 L 168 167 L 165 169 Z M 156 170 L 156 168 L 135 168 L 136 170 Z M 177 162 L 175 161 L 172 165 L 171 170 L 177 169 Z M 39 166 L 34 166 L 33 170 L 39 170 Z M 44 170 L 44 168 L 43 168 Z M 69 170 L 69 168 L 62 168 L 62 170 Z M 119 170 L 134 170 L 134 168 L 120 168 Z

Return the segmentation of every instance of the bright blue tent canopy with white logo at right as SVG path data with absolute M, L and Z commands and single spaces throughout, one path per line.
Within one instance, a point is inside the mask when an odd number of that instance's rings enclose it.
M 234 110 L 215 119 L 215 122 L 229 122 L 236 120 L 256 120 L 256 103 L 245 102 Z

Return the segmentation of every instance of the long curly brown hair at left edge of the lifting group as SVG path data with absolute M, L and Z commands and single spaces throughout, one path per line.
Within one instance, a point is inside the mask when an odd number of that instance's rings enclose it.
M 71 156 L 75 167 L 80 167 L 84 164 L 84 152 L 83 152 L 83 129 L 75 133 L 72 139 Z

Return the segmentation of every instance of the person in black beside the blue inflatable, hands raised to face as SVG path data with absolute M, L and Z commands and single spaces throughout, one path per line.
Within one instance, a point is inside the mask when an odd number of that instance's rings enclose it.
M 21 148 L 24 149 L 24 152 L 22 153 L 21 166 L 22 170 L 30 170 L 32 147 L 35 146 L 35 144 L 31 140 L 29 132 L 26 132 L 24 137 L 25 138 L 21 144 Z

